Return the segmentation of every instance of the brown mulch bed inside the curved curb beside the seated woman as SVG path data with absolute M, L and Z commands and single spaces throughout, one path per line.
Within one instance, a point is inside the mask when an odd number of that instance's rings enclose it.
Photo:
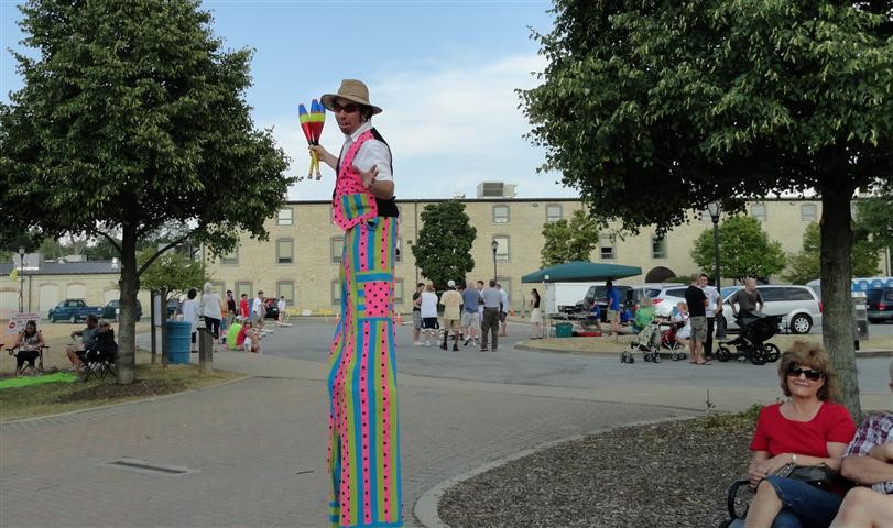
M 616 429 L 565 442 L 447 491 L 453 528 L 710 527 L 747 471 L 755 413 Z

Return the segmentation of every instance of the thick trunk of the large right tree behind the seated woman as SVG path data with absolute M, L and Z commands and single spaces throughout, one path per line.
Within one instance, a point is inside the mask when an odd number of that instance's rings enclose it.
M 831 365 L 840 382 L 840 402 L 858 424 L 859 380 L 856 373 L 853 316 L 850 297 L 852 280 L 852 189 L 823 189 L 821 193 L 821 300 L 825 312 L 821 333 Z

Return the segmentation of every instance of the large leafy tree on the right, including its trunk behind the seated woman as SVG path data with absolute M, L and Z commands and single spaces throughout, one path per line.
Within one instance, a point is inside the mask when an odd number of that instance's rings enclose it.
M 542 84 L 522 91 L 545 166 L 631 230 L 820 196 L 825 345 L 858 417 L 850 200 L 893 178 L 891 1 L 554 3 Z

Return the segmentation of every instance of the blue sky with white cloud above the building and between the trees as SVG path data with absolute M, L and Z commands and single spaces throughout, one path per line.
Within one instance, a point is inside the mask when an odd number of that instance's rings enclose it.
M 18 2 L 0 1 L 0 98 L 21 87 L 7 51 L 22 38 Z M 575 197 L 557 174 L 536 174 L 541 148 L 516 88 L 531 88 L 545 62 L 530 28 L 548 31 L 547 0 L 275 1 L 208 0 L 215 34 L 229 48 L 255 50 L 247 99 L 260 127 L 273 128 L 292 157 L 290 174 L 307 170 L 297 105 L 337 91 L 340 79 L 369 85 L 384 112 L 373 123 L 394 154 L 399 198 L 473 197 L 483 180 L 518 184 L 518 196 Z M 323 145 L 342 136 L 329 116 Z M 302 182 L 292 199 L 326 199 L 334 174 Z

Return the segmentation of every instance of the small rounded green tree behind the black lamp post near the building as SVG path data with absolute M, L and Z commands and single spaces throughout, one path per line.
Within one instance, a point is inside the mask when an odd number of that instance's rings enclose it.
M 710 228 L 698 235 L 691 248 L 691 260 L 707 275 L 714 274 L 714 229 Z M 784 266 L 782 244 L 770 240 L 755 218 L 734 216 L 719 224 L 719 268 L 723 277 L 741 282 L 747 277 L 769 277 Z

